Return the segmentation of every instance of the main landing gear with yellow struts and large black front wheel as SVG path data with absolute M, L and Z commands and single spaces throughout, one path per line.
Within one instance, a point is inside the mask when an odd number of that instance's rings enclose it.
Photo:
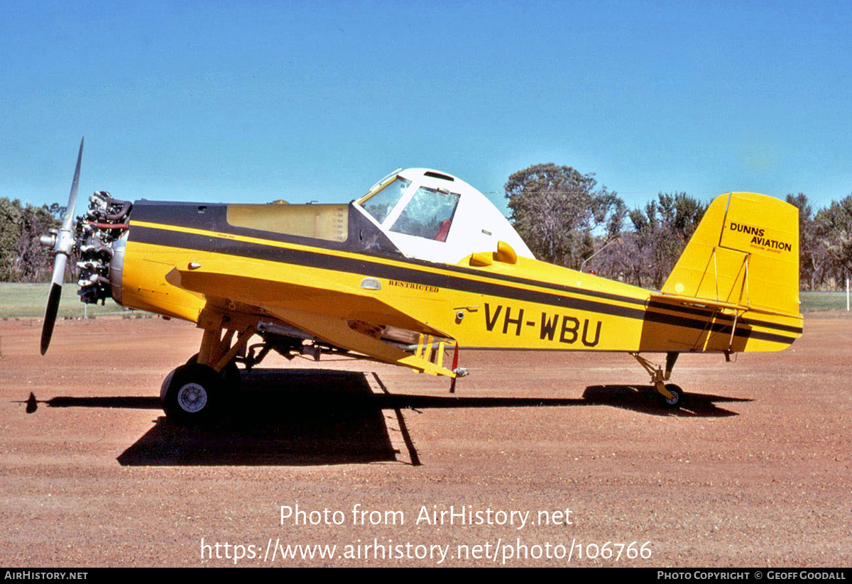
M 255 328 L 252 325 L 240 331 L 231 346 L 235 331 L 228 329 L 222 335 L 222 318 L 212 322 L 216 326 L 204 328 L 198 356 L 172 371 L 163 382 L 160 400 L 166 417 L 172 421 L 215 420 L 224 409 L 228 394 L 239 386 L 234 358 L 245 348 Z M 205 323 L 210 324 L 210 320 Z

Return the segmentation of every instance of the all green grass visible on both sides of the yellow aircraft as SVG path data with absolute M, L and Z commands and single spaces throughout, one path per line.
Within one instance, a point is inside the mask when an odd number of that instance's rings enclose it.
M 43 317 L 48 301 L 49 283 L 0 283 L 0 318 Z M 83 302 L 77 295 L 77 284 L 62 286 L 59 318 L 83 318 Z M 846 311 L 845 292 L 801 292 L 802 312 Z M 135 311 L 137 315 L 148 312 Z M 128 314 L 112 299 L 106 306 L 89 305 L 89 317 Z M 852 314 L 852 313 L 850 313 Z

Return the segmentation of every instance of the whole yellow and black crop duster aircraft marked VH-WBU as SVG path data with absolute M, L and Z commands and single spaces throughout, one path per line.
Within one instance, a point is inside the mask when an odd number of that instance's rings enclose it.
M 764 195 L 716 198 L 658 292 L 537 261 L 481 192 L 431 169 L 394 171 L 341 204 L 95 192 L 72 220 L 82 153 L 81 141 L 62 226 L 43 237 L 56 256 L 41 352 L 77 252 L 83 302 L 112 297 L 204 330 L 198 354 L 163 382 L 176 421 L 221 414 L 237 364 L 270 351 L 401 365 L 452 379 L 451 391 L 467 373 L 459 349 L 625 352 L 677 408 L 683 392 L 665 381 L 680 353 L 729 360 L 802 335 L 797 209 Z M 665 366 L 649 352 L 665 353 Z

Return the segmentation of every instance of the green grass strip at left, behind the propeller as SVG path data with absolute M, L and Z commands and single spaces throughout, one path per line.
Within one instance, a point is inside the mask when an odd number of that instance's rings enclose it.
M 78 286 L 66 282 L 62 286 L 57 318 L 83 318 L 86 307 L 77 295 Z M 0 283 L 0 318 L 43 317 L 48 302 L 49 283 Z M 112 299 L 106 306 L 89 304 L 89 318 L 114 314 L 129 314 Z M 134 314 L 147 315 L 147 312 L 135 311 Z

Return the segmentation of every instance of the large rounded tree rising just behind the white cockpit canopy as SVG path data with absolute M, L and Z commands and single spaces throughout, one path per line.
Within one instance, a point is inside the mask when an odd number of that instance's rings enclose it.
M 509 220 L 538 259 L 578 268 L 617 237 L 625 203 L 594 175 L 569 166 L 536 164 L 509 176 Z

